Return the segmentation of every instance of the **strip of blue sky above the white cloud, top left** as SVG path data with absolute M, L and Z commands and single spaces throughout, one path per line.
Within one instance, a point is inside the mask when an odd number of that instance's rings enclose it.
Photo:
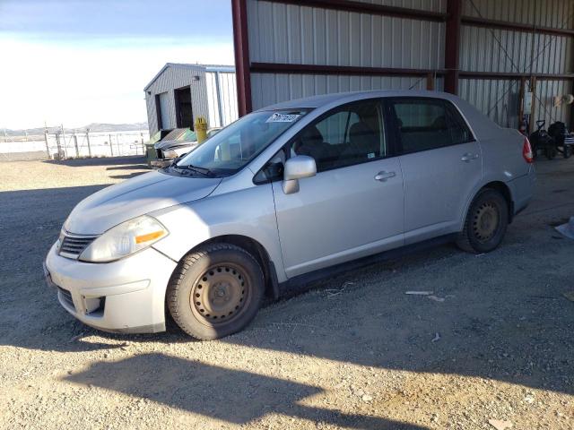
M 75 39 L 231 38 L 229 0 L 1 0 L 0 31 Z

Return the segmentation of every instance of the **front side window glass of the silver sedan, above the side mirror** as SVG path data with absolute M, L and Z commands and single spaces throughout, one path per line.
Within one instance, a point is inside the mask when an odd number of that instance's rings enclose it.
M 313 157 L 317 172 L 386 157 L 381 104 L 365 100 L 336 108 L 303 129 L 291 154 Z

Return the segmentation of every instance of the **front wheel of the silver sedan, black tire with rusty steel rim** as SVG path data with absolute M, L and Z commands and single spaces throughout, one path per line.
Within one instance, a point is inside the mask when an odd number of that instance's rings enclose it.
M 263 271 L 251 254 L 236 245 L 213 244 L 179 262 L 166 299 L 181 330 L 214 340 L 244 329 L 264 293 Z

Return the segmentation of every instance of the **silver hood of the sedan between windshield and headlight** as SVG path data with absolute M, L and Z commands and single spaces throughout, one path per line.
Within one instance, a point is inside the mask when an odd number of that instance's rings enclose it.
M 221 178 L 146 173 L 85 198 L 70 213 L 64 228 L 79 235 L 100 235 L 127 219 L 203 199 L 221 182 Z

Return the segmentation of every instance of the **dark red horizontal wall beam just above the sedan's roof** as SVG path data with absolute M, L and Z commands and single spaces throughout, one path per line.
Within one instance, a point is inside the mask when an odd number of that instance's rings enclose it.
M 353 76 L 428 76 L 443 75 L 444 70 L 431 69 L 400 69 L 395 67 L 360 67 L 353 65 L 322 65 L 322 64 L 285 64 L 285 63 L 252 63 L 253 73 L 293 73 L 293 74 L 325 74 Z

